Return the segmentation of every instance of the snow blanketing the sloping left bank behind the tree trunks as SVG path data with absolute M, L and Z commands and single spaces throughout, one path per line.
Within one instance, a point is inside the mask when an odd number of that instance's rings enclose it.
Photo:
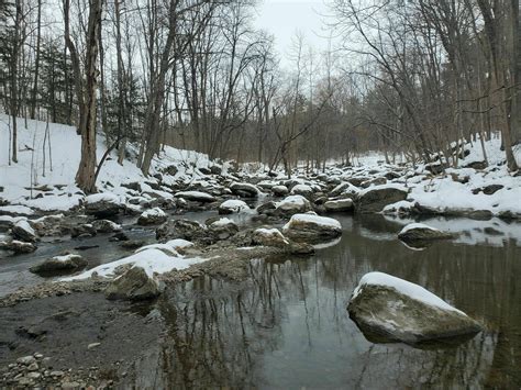
M 75 176 L 79 166 L 81 151 L 81 137 L 76 134 L 76 127 L 49 123 L 53 170 L 49 169 L 48 147 L 46 146 L 46 166 L 45 175 L 43 175 L 43 141 L 46 123 L 27 120 L 27 125 L 25 126 L 25 120 L 18 120 L 19 163 L 11 163 L 11 165 L 9 164 L 9 154 L 7 153 L 9 123 L 10 118 L 5 114 L 0 114 L 0 145 L 4 147 L 0 152 L 0 187 L 4 188 L 1 197 L 12 203 L 11 205 L 0 208 L 0 213 L 2 213 L 3 209 L 3 212 L 31 215 L 34 211 L 26 207 L 44 211 L 65 211 L 78 205 L 79 201 L 84 200 L 84 196 L 75 185 Z M 98 159 L 106 151 L 104 136 L 98 134 Z M 136 145 L 128 146 L 128 152 L 131 156 L 136 156 L 137 151 Z M 153 190 L 145 181 L 157 182 L 154 174 L 160 172 L 165 185 L 174 185 L 176 182 L 186 182 L 188 185 L 197 178 L 204 178 L 198 168 L 218 165 L 210 161 L 204 154 L 165 146 L 164 151 L 154 157 L 151 175 L 145 177 L 132 158 L 123 160 L 123 164 L 120 165 L 118 164 L 117 151 L 113 151 L 110 157 L 103 163 L 97 186 L 101 192 L 114 192 L 115 196 L 121 198 L 121 201 L 124 201 L 126 193 L 129 193 L 126 189 L 120 188 L 122 182 L 140 182 L 144 187 L 143 191 L 159 194 L 163 198 L 171 198 L 171 194 L 166 191 Z M 170 166 L 176 167 L 177 172 L 175 175 L 165 172 Z M 228 165 L 223 165 L 222 168 L 223 175 L 228 175 Z M 109 182 L 111 186 L 108 185 Z M 51 190 L 40 191 L 36 189 L 40 186 L 46 186 Z M 31 187 L 33 187 L 33 191 L 31 191 Z M 43 194 L 43 198 L 35 199 L 36 194 Z

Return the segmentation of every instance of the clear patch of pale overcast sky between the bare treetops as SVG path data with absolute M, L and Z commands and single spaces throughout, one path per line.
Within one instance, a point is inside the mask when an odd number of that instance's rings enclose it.
M 328 9 L 323 0 L 259 0 L 255 24 L 275 36 L 275 47 L 281 55 L 282 66 L 287 64 L 287 54 L 291 37 L 296 31 L 302 32 L 307 43 L 317 51 L 326 49 L 328 33 L 322 20 Z

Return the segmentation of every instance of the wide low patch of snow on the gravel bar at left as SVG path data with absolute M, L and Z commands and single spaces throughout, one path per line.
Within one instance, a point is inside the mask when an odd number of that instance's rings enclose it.
M 208 259 L 199 257 L 185 258 L 184 256 L 169 256 L 157 248 L 148 248 L 137 252 L 129 257 L 103 264 L 80 275 L 64 278 L 62 280 L 84 280 L 90 278 L 95 272 L 100 277 L 112 278 L 115 276 L 117 268 L 125 265 L 142 267 L 146 275 L 152 278 L 154 277 L 154 274 L 165 274 L 174 269 L 186 269 L 191 265 L 203 263 L 206 260 Z

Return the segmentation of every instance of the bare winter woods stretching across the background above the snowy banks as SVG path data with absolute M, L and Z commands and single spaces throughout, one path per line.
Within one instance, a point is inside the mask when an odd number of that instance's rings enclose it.
M 93 192 L 97 134 L 120 164 L 138 145 L 145 175 L 173 145 L 290 176 L 298 161 L 319 169 L 369 149 L 447 167 L 457 140 L 499 131 L 518 169 L 519 1 L 328 4 L 336 41 L 313 52 L 296 34 L 281 66 L 251 0 L 2 0 L 2 153 L 16 164 L 16 116 L 74 124 L 77 183 Z

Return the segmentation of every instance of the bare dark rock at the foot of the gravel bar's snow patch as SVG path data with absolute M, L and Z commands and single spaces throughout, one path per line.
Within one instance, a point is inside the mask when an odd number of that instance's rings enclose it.
M 132 267 L 119 278 L 111 281 L 104 291 L 107 299 L 126 299 L 140 301 L 159 296 L 158 283 L 148 277 L 142 267 Z

